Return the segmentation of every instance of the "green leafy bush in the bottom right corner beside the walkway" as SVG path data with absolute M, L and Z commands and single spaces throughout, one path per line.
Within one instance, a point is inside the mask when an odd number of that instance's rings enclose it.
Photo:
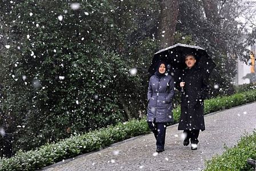
M 227 148 L 219 156 L 206 161 L 205 171 L 210 170 L 251 170 L 252 166 L 247 164 L 247 158 L 256 159 L 256 132 L 245 135 L 233 148 Z

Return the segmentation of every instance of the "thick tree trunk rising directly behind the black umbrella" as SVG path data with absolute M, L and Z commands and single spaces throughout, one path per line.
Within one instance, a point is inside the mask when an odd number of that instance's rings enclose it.
M 172 46 L 178 17 L 178 0 L 160 0 L 158 40 L 160 48 Z

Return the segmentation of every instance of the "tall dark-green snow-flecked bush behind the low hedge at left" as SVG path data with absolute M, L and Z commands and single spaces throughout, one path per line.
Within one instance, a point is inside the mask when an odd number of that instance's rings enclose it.
M 117 50 L 126 35 L 117 25 L 114 2 L 77 2 L 78 10 L 69 0 L 0 2 L 12 6 L 1 17 L 11 40 L 0 71 L 1 119 L 7 122 L 1 124 L 13 136 L 14 152 L 117 124 L 126 119 L 125 105 L 129 109 L 135 101 L 138 111 L 144 99 L 137 96 L 141 79 L 129 73 L 134 66 Z

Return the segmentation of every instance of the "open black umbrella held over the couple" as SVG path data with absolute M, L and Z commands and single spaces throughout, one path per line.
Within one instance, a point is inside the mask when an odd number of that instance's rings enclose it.
M 185 57 L 187 54 L 193 54 L 195 56 L 197 59 L 197 66 L 209 77 L 216 64 L 207 54 L 206 50 L 199 46 L 191 46 L 181 43 L 156 52 L 152 64 L 149 67 L 149 72 L 154 74 L 157 70 L 157 63 L 159 61 L 164 61 L 169 64 L 167 70 L 174 76 L 174 81 L 178 82 L 181 71 L 186 68 Z

